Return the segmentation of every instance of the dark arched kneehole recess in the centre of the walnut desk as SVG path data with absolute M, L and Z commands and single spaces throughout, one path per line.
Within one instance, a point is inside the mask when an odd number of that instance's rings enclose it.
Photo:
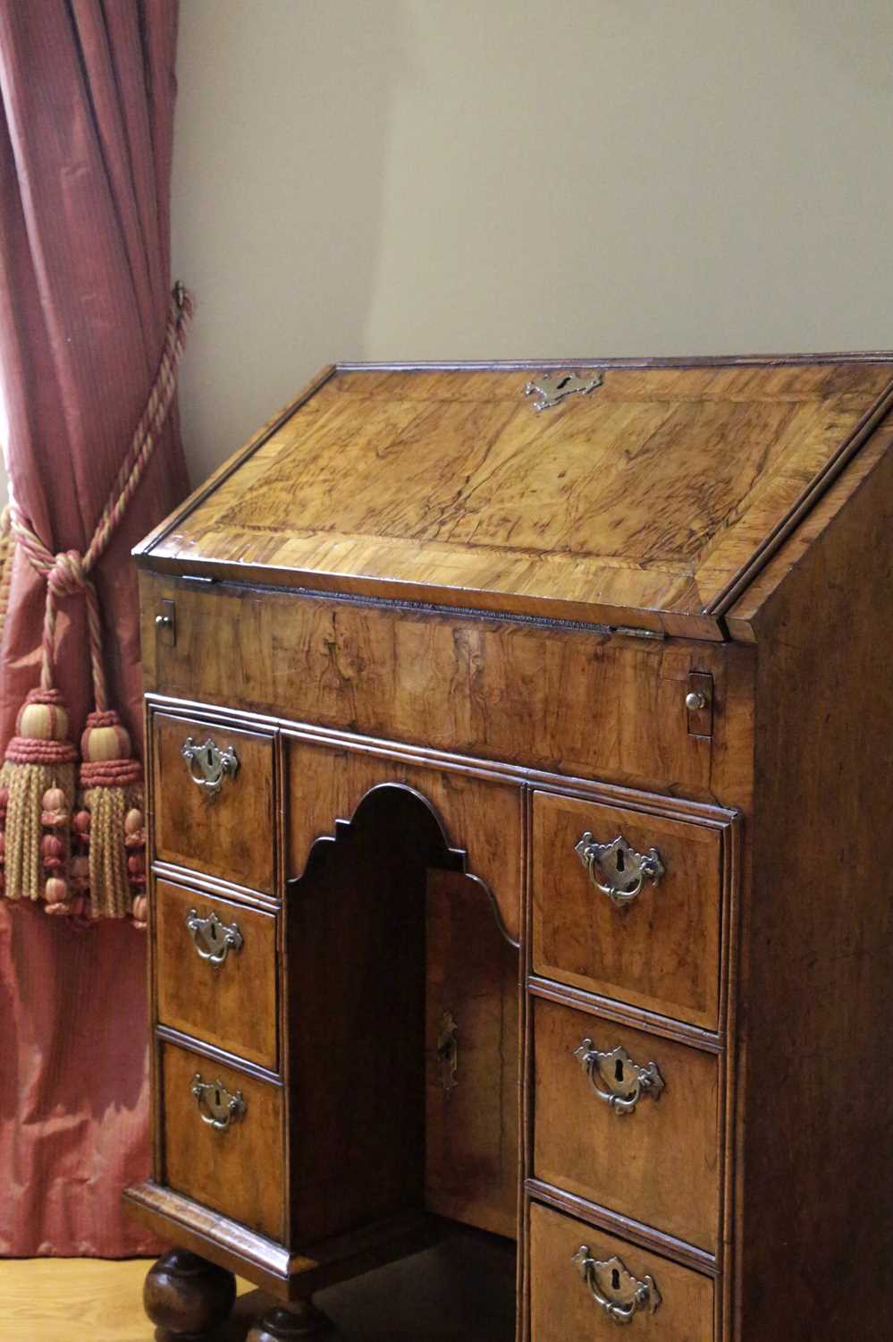
M 516 1235 L 519 951 L 465 868 L 383 784 L 290 882 L 296 1243 L 413 1212 Z

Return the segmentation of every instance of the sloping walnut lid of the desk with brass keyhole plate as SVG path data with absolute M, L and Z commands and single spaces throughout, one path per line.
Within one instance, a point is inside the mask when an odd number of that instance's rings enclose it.
M 754 641 L 889 451 L 892 408 L 882 353 L 339 364 L 134 556 L 186 577 Z

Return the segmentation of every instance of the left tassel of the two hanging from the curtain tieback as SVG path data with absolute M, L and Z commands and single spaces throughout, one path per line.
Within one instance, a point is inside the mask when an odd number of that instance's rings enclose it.
M 75 746 L 68 737 L 68 714 L 58 690 L 32 690 L 16 721 L 16 735 L 0 769 L 0 794 L 5 793 L 3 860 L 9 899 L 47 899 L 66 903 L 60 878 L 44 874 L 43 825 L 50 815 L 46 801 L 54 793 L 52 815 L 67 817 L 75 793 Z M 60 821 L 62 824 L 62 821 Z M 56 825 L 50 825 L 55 836 Z M 67 851 L 67 840 L 63 841 Z M 50 888 L 50 882 L 54 882 Z

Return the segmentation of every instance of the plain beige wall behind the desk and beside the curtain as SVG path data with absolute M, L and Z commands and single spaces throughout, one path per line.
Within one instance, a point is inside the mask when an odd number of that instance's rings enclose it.
M 182 0 L 206 474 L 335 358 L 893 346 L 890 0 Z

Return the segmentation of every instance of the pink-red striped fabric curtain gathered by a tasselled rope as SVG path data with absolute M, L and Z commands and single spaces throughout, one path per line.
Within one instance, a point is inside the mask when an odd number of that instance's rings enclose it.
M 83 552 L 154 378 L 170 290 L 176 0 L 0 0 L 0 384 L 16 502 Z M 131 546 L 186 491 L 176 409 L 97 570 L 111 703 L 141 741 Z M 20 554 L 0 749 L 38 684 L 46 588 Z M 93 703 L 83 597 L 59 609 L 72 738 Z M 121 1189 L 149 1168 L 145 937 L 0 902 L 0 1252 L 152 1249 Z M 12 1196 L 9 1196 L 12 1194 Z

